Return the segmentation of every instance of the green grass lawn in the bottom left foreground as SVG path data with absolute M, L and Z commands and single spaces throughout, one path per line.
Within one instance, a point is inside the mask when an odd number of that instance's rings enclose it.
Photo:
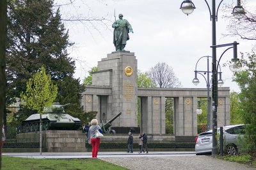
M 1 169 L 126 169 L 98 158 L 39 159 L 2 156 Z

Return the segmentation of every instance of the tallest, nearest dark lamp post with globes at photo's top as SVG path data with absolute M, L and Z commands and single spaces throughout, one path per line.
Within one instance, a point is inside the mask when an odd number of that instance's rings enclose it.
M 217 100 L 218 100 L 218 72 L 216 68 L 216 20 L 218 15 L 218 10 L 220 7 L 220 4 L 223 2 L 223 0 L 220 1 L 217 11 L 216 11 L 216 0 L 212 0 L 212 10 L 209 7 L 208 2 L 205 0 L 205 3 L 207 4 L 207 7 L 209 9 L 210 15 L 211 15 L 211 21 L 212 21 L 212 155 L 218 154 L 218 148 L 217 148 L 217 141 L 216 141 L 216 131 L 217 131 Z M 233 15 L 237 16 L 239 15 L 240 19 L 243 18 L 243 15 L 245 14 L 243 6 L 241 6 L 241 0 L 237 0 L 237 6 L 235 6 L 236 10 L 233 10 Z M 180 5 L 180 9 L 183 13 L 186 15 L 189 15 L 190 13 L 195 10 L 195 4 L 192 3 L 192 1 L 185 0 Z

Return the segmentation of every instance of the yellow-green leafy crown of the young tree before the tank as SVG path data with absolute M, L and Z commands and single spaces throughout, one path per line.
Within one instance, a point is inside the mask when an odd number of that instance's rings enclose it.
M 58 87 L 52 84 L 51 76 L 47 75 L 45 68 L 33 75 L 33 78 L 27 82 L 25 93 L 21 93 L 20 99 L 22 105 L 28 109 L 44 113 L 44 108 L 49 107 L 57 97 Z

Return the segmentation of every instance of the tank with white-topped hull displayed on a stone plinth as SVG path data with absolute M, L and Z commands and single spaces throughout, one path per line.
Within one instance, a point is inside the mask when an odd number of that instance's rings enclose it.
M 68 104 L 65 104 L 68 105 Z M 42 114 L 42 130 L 77 130 L 81 127 L 81 121 L 65 113 L 60 103 L 52 103 Z M 32 114 L 22 121 L 22 132 L 35 132 L 39 130 L 40 114 Z

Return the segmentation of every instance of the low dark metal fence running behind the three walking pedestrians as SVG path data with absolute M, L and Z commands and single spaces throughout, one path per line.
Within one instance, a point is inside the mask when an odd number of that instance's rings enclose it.
M 88 141 L 86 148 L 92 148 Z M 148 141 L 148 148 L 195 148 L 195 143 L 177 143 L 175 141 Z M 127 141 L 100 141 L 99 148 L 127 148 Z M 133 148 L 139 148 L 139 141 L 133 142 Z

